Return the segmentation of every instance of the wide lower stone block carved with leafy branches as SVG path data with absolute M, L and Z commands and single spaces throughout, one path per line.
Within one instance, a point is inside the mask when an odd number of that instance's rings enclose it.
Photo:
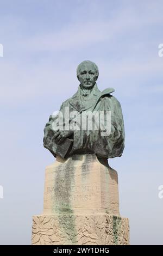
M 129 219 L 109 214 L 33 216 L 33 245 L 129 245 Z

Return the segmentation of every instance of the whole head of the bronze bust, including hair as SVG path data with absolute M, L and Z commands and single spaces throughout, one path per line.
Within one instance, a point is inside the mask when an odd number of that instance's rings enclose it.
M 84 60 L 77 68 L 77 77 L 85 89 L 92 88 L 98 78 L 98 67 L 90 60 Z

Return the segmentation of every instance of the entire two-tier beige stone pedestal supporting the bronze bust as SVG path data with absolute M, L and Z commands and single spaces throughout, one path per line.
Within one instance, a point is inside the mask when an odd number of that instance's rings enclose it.
M 105 165 L 104 165 L 105 164 Z M 33 216 L 33 245 L 128 245 L 129 220 L 118 202 L 117 172 L 95 154 L 47 166 L 43 213 Z

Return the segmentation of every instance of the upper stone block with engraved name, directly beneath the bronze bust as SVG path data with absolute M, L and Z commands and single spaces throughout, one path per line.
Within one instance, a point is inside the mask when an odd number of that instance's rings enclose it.
M 95 154 L 57 159 L 46 168 L 43 214 L 60 211 L 119 215 L 117 172 Z

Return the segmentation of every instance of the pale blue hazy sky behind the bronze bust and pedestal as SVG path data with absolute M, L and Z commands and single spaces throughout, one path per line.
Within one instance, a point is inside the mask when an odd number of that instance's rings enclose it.
M 99 67 L 98 88 L 114 87 L 126 130 L 119 177 L 131 244 L 163 244 L 162 1 L 0 0 L 0 244 L 30 244 L 43 208 L 43 148 L 49 115 L 77 88 L 77 65 Z

